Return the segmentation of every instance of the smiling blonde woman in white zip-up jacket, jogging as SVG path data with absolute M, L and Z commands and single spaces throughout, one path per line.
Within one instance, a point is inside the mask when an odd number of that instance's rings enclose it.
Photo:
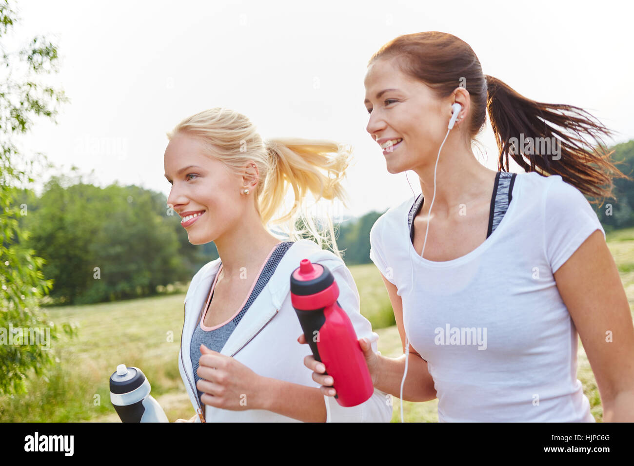
M 345 202 L 349 150 L 331 141 L 264 141 L 247 117 L 226 108 L 184 119 L 167 136 L 168 205 L 192 244 L 213 241 L 220 256 L 193 276 L 184 300 L 178 366 L 196 412 L 189 421 L 389 421 L 380 391 L 351 408 L 321 394 L 302 364 L 310 349 L 297 342 L 290 302 L 292 271 L 302 259 L 319 262 L 333 273 L 357 335 L 377 348 L 332 223 L 327 237 L 304 214 L 307 193 Z M 275 217 L 289 186 L 295 203 Z M 304 230 L 295 227 L 298 217 Z M 269 223 L 281 223 L 287 239 Z M 300 239 L 306 232 L 316 242 Z M 336 254 L 322 249 L 328 238 Z

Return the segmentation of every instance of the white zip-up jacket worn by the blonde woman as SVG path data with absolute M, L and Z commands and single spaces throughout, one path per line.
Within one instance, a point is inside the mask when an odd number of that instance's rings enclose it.
M 339 287 L 337 301 L 350 317 L 357 338 L 370 340 L 372 350 L 377 351 L 378 335 L 372 332 L 370 322 L 359 313 L 359 293 L 346 264 L 332 252 L 320 249 L 313 241 L 300 240 L 284 254 L 275 273 L 252 302 L 220 353 L 237 359 L 263 377 L 320 387 L 313 380 L 313 372 L 304 366 L 304 357 L 312 353 L 307 344 L 297 342 L 303 330 L 290 301 L 290 274 L 299 267 L 302 259 L 318 262 L 330 270 Z M 190 344 L 219 265 L 220 259 L 216 259 L 202 266 L 191 279 L 185 295 L 178 369 L 191 405 L 198 413 L 205 413 L 206 422 L 299 422 L 273 411 L 233 411 L 200 404 L 191 365 Z M 392 418 L 391 395 L 377 389 L 367 401 L 349 408 L 340 406 L 332 396 L 323 398 L 326 422 L 389 422 Z M 200 418 L 197 417 L 195 421 L 200 422 Z

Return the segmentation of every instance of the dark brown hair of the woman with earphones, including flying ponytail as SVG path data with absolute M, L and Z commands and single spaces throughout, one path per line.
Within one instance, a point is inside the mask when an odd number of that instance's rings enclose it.
M 601 136 L 611 136 L 611 130 L 582 108 L 530 100 L 482 74 L 475 52 L 458 37 L 436 31 L 405 34 L 387 42 L 368 66 L 387 58 L 396 58 L 401 71 L 427 84 L 439 98 L 460 86 L 469 91 L 470 137 L 474 139 L 484 127 L 488 111 L 500 156 L 498 170 L 508 171 L 510 153 L 525 171 L 560 175 L 590 197 L 612 197 L 613 178 L 631 180 L 609 159 L 614 151 L 606 153 Z M 594 143 L 586 141 L 583 133 Z M 522 140 L 527 144 L 522 145 Z M 554 156 L 550 143 L 558 148 Z M 607 188 L 602 188 L 605 184 Z

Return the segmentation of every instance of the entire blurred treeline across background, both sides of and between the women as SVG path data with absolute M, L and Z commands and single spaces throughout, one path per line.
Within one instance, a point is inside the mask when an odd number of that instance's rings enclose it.
M 631 175 L 634 141 L 612 149 L 616 166 Z M 606 198 L 602 207 L 592 204 L 605 231 L 634 226 L 633 183 L 615 179 L 614 185 L 616 199 Z M 53 176 L 41 196 L 23 190 L 18 200 L 20 228 L 31 232 L 25 246 L 46 260 L 44 277 L 54 280 L 48 304 L 183 292 L 198 269 L 218 257 L 214 243 L 189 242 L 162 193 L 138 186 L 100 188 L 81 178 Z M 335 223 L 347 265 L 370 262 L 370 229 L 381 214 Z

